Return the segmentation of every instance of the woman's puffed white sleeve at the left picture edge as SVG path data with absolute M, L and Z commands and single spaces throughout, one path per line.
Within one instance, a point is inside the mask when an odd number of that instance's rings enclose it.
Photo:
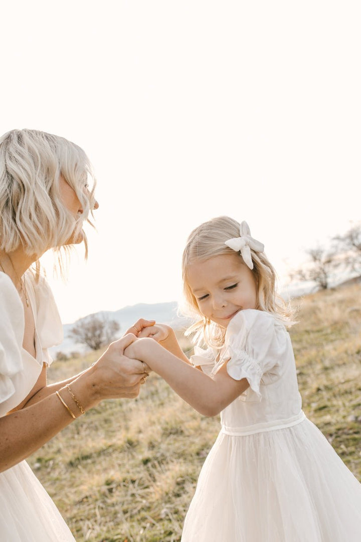
M 14 285 L 0 273 L 0 403 L 14 395 L 13 383 L 23 371 L 24 311 Z

